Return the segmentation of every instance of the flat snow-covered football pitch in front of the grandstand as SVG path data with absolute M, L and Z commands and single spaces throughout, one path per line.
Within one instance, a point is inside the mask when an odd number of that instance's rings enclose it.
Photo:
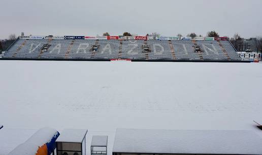
M 262 63 L 0 61 L 0 155 L 37 129 L 253 130 Z

